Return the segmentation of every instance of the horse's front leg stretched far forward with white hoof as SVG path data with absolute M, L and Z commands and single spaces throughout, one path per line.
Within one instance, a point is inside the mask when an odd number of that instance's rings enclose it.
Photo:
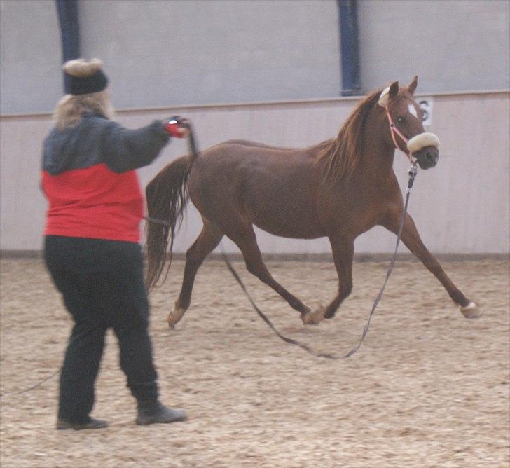
M 392 233 L 397 234 L 399 232 L 401 222 L 400 216 L 391 216 L 390 219 L 385 221 L 383 226 L 392 231 Z M 452 298 L 457 305 L 460 305 L 460 311 L 464 317 L 468 319 L 480 317 L 481 314 L 478 311 L 478 306 L 474 302 L 469 301 L 469 299 L 462 294 L 460 289 L 458 289 L 455 284 L 453 284 L 452 280 L 450 280 L 448 275 L 446 275 L 439 264 L 439 261 L 437 261 L 434 255 L 427 250 L 427 247 L 423 244 L 420 234 L 418 233 L 418 229 L 416 228 L 410 214 L 406 215 L 401 239 L 402 242 L 404 242 L 404 245 L 406 245 L 406 247 L 422 261 L 422 263 L 441 282 L 441 284 L 443 284 L 443 287 L 445 287 L 448 294 L 450 294 L 450 298 Z

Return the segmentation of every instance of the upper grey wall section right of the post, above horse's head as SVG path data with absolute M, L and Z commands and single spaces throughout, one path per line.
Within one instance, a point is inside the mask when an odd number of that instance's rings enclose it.
M 510 88 L 510 1 L 358 4 L 365 91 L 415 74 L 422 92 Z

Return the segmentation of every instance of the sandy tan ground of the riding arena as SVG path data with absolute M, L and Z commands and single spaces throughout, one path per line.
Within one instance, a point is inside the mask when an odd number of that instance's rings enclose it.
M 287 336 L 345 354 L 357 343 L 387 263 L 355 263 L 336 317 L 303 326 L 272 290 L 235 263 L 261 309 Z M 1 260 L 1 467 L 508 467 L 509 263 L 444 267 L 483 311 L 462 317 L 439 282 L 399 262 L 361 350 L 312 357 L 259 319 L 223 263 L 199 271 L 175 331 L 166 316 L 183 263 L 151 294 L 151 336 L 165 403 L 187 422 L 137 427 L 135 402 L 109 334 L 93 415 L 103 431 L 56 431 L 57 377 L 71 326 L 43 264 Z M 336 290 L 329 262 L 268 268 L 315 308 Z

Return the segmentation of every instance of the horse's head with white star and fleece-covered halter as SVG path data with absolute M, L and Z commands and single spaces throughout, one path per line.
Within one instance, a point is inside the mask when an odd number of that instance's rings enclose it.
M 407 88 L 399 88 L 395 81 L 381 92 L 379 105 L 385 108 L 389 124 L 384 132 L 387 143 L 418 160 L 422 169 L 429 169 L 439 159 L 439 139 L 423 128 L 423 111 L 413 97 L 417 84 L 418 76 Z

